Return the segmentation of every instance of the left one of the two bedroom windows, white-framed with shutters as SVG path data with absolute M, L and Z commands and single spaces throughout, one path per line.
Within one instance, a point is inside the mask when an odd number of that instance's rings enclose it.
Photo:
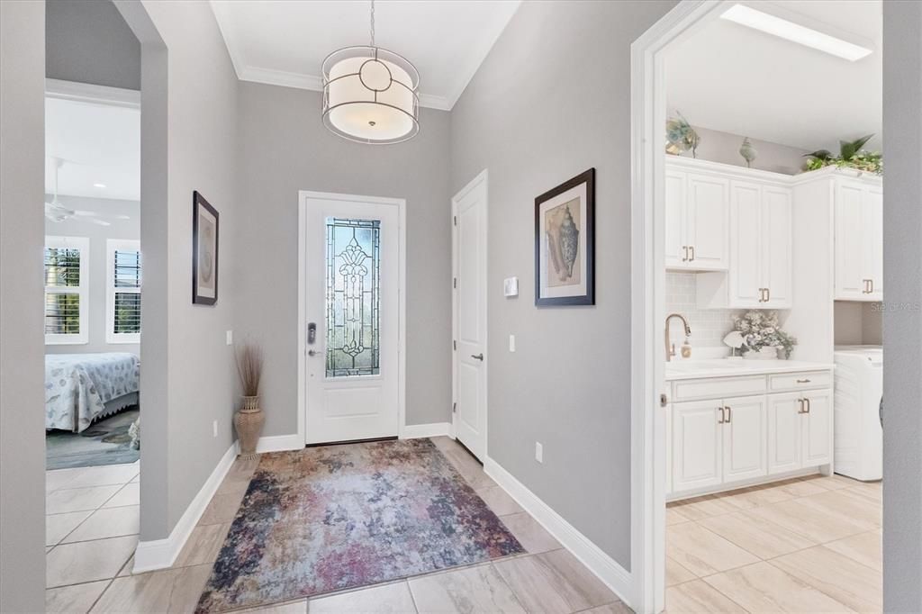
M 45 343 L 89 342 L 89 239 L 45 237 Z

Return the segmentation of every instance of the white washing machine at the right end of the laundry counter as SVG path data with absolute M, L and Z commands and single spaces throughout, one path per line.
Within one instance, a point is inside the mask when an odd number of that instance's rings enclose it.
M 833 407 L 835 473 L 883 477 L 883 348 L 836 346 Z

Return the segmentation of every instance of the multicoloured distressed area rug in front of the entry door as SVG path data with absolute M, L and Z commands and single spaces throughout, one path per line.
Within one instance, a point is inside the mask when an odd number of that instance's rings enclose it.
M 523 551 L 428 439 L 266 454 L 198 611 L 270 604 Z

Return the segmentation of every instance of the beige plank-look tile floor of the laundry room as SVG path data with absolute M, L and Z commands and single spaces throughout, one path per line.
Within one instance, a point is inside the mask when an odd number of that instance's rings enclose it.
M 670 503 L 666 608 L 880 612 L 881 483 L 811 477 Z

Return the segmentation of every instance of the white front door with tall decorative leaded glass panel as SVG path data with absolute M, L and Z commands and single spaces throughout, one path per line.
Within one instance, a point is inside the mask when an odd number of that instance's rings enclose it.
M 307 443 L 396 436 L 400 201 L 303 197 Z

